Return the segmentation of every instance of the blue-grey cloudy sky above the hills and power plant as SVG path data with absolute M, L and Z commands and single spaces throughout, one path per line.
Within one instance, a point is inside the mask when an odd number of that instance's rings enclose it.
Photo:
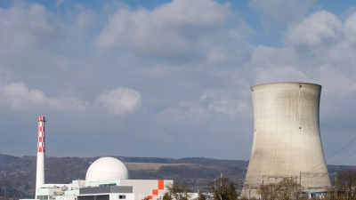
M 250 86 L 309 82 L 356 165 L 355 65 L 351 0 L 4 0 L 0 153 L 35 156 L 45 116 L 47 156 L 248 160 Z

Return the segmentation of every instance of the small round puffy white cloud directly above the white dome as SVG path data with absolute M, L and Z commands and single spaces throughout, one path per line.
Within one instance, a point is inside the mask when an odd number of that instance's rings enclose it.
M 117 116 L 132 113 L 141 104 L 141 94 L 129 88 L 117 88 L 112 91 L 105 91 L 98 101 L 104 108 Z

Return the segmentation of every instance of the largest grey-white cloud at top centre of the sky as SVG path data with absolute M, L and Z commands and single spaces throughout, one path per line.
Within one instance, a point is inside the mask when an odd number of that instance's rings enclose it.
M 174 0 L 153 11 L 121 9 L 109 19 L 96 46 L 161 58 L 182 60 L 189 54 L 194 58 L 204 46 L 201 40 L 219 31 L 230 12 L 228 4 L 212 0 Z

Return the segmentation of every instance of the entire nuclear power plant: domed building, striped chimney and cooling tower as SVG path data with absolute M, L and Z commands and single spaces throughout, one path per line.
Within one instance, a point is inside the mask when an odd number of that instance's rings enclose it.
M 307 193 L 331 187 L 320 138 L 319 84 L 275 83 L 251 87 L 254 139 L 241 196 L 258 198 L 263 185 L 293 179 Z M 121 161 L 101 157 L 85 180 L 45 183 L 44 116 L 38 117 L 36 196 L 39 200 L 162 199 L 173 180 L 129 180 Z

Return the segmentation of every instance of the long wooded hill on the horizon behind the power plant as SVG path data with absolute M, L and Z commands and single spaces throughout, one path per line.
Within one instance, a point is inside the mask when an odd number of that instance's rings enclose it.
M 219 160 L 204 157 L 180 159 L 161 157 L 113 156 L 124 162 L 133 180 L 174 180 L 189 184 L 194 190 L 205 190 L 206 183 L 223 176 L 230 177 L 240 186 L 247 172 L 248 161 Z M 47 183 L 70 183 L 85 180 L 85 173 L 99 157 L 46 157 L 45 178 Z M 134 163 L 141 163 L 135 167 Z M 153 167 L 153 165 L 155 167 Z M 328 165 L 328 172 L 349 166 Z M 333 177 L 331 177 L 333 179 Z M 29 198 L 35 196 L 36 156 L 8 156 L 0 154 L 0 199 Z

